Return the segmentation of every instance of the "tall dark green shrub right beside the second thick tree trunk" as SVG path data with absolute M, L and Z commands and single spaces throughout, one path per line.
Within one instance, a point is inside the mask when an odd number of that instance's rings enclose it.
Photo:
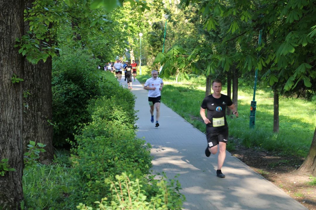
M 76 127 L 89 121 L 88 101 L 102 95 L 101 72 L 84 51 L 58 57 L 52 68 L 52 109 L 54 146 L 62 146 L 65 139 L 73 139 Z

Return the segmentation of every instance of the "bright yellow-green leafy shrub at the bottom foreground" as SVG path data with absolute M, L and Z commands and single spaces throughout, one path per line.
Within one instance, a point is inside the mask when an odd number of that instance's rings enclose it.
M 153 179 L 151 184 L 136 178 L 132 175 L 122 173 L 121 176 L 116 175 L 117 181 L 113 182 L 107 179 L 106 183 L 110 185 L 111 195 L 110 199 L 102 198 L 96 210 L 125 210 L 125 209 L 182 209 L 184 196 L 179 193 L 179 182 L 166 181 L 167 177 L 164 175 L 160 180 Z M 155 190 L 153 190 L 155 189 Z M 149 196 L 149 193 L 153 195 Z M 111 202 L 109 202 L 111 200 Z M 80 210 L 92 210 L 85 204 L 80 203 L 77 206 Z

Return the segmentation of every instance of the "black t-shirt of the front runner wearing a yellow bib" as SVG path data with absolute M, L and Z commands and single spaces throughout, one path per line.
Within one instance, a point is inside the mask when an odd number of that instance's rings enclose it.
M 227 95 L 223 94 L 219 99 L 214 98 L 212 94 L 204 98 L 201 107 L 202 109 L 207 109 L 207 119 L 211 122 L 206 125 L 207 133 L 217 133 L 228 128 L 226 121 L 226 106 L 231 106 L 232 104 L 232 100 Z M 223 117 L 225 122 L 224 125 L 222 125 Z M 215 118 L 214 122 L 218 122 L 218 127 L 216 127 L 216 125 L 213 126 L 213 118 Z

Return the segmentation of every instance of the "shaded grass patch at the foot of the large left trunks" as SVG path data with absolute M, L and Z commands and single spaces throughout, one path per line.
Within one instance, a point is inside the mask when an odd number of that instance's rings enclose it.
M 77 203 L 67 201 L 72 193 L 69 167 L 68 152 L 57 151 L 54 164 L 24 169 L 22 184 L 26 209 L 75 209 Z

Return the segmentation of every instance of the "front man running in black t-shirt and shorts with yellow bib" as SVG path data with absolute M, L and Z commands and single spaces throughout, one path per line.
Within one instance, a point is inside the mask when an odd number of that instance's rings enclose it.
M 224 178 L 221 168 L 226 157 L 226 144 L 228 141 L 228 126 L 226 121 L 226 106 L 233 111 L 233 114 L 238 117 L 238 112 L 230 97 L 221 94 L 222 81 L 214 79 L 212 81 L 213 94 L 204 98 L 200 115 L 206 124 L 206 139 L 208 146 L 205 149 L 207 157 L 210 154 L 216 154 L 219 148 L 218 165 L 216 175 Z M 205 110 L 207 109 L 207 117 Z M 217 146 L 219 145 L 219 146 Z

